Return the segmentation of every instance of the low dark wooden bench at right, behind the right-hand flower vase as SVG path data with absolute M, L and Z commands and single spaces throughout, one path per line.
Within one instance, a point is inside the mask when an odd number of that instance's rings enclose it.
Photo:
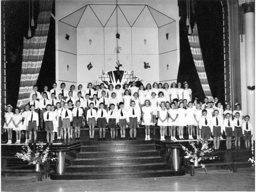
M 223 169 L 223 167 L 226 169 L 226 170 L 229 170 L 229 171 L 232 171 L 234 173 L 237 172 L 237 165 L 238 164 L 252 164 L 251 161 L 242 161 L 242 162 L 225 162 L 225 163 L 207 163 L 207 164 L 204 164 L 205 167 L 217 167 L 217 166 L 221 166 L 221 169 Z M 195 169 L 196 168 L 202 168 L 202 166 L 195 166 L 195 165 L 188 165 L 187 167 L 187 173 L 188 171 L 190 172 L 190 175 L 191 176 L 194 176 L 195 175 Z

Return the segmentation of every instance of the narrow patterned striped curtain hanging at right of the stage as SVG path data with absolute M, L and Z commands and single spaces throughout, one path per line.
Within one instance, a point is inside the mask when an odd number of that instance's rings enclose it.
M 196 71 L 199 76 L 202 88 L 204 90 L 204 94 L 206 97 L 209 98 L 209 101 L 213 101 L 212 92 L 211 92 L 211 89 L 207 80 L 207 76 L 205 73 L 205 69 L 204 69 L 204 61 L 203 61 L 203 56 L 201 52 L 196 22 L 194 25 L 193 33 L 190 36 L 188 36 L 188 42 L 189 42 L 190 50 L 196 66 Z

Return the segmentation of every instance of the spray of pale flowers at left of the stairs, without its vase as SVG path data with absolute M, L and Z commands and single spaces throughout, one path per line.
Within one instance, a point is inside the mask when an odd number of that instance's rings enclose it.
M 28 165 L 30 164 L 43 164 L 44 162 L 51 160 L 56 161 L 56 157 L 52 157 L 49 155 L 51 152 L 49 149 L 49 146 L 44 150 L 43 149 L 43 142 L 39 142 L 39 145 L 36 147 L 36 149 L 30 149 L 28 144 L 22 146 L 21 153 L 16 153 L 15 157 L 20 158 L 23 161 L 28 161 Z M 54 152 L 52 152 L 52 155 L 55 155 Z M 57 155 L 57 154 L 56 154 Z

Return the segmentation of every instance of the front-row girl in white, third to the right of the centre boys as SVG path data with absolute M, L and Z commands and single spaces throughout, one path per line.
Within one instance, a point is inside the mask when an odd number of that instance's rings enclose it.
M 171 103 L 171 108 L 168 110 L 169 114 L 169 121 L 168 121 L 168 126 L 171 127 L 169 130 L 169 134 L 171 134 L 171 140 L 177 140 L 175 138 L 175 133 L 176 133 L 176 126 L 178 126 L 176 119 L 178 118 L 178 112 L 177 109 L 175 109 L 175 103 Z

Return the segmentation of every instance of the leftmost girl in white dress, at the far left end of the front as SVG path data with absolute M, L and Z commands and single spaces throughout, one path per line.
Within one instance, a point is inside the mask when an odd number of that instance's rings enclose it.
M 13 118 L 13 113 L 12 113 L 12 106 L 11 105 L 7 105 L 5 107 L 5 109 L 7 110 L 7 113 L 4 114 L 4 129 L 7 130 L 8 133 L 8 142 L 6 144 L 11 144 L 12 143 L 12 129 L 14 127 L 13 123 L 12 123 L 12 118 Z

